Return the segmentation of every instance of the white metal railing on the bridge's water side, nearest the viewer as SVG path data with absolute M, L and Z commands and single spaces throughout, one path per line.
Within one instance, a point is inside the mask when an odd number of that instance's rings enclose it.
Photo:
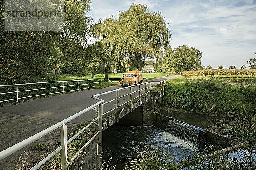
M 160 85 L 158 84 L 160 83 Z M 156 85 L 154 85 L 156 84 Z M 142 88 L 142 86 L 144 86 L 144 88 Z M 7 148 L 6 150 L 3 150 L 0 152 L 0 160 L 6 158 L 7 156 L 10 156 L 12 153 L 17 152 L 18 150 L 26 147 L 27 145 L 31 144 L 32 142 L 35 142 L 36 140 L 40 139 L 41 137 L 51 133 L 53 130 L 58 129 L 59 127 L 61 127 L 61 146 L 58 147 L 56 150 L 54 150 L 52 153 L 50 153 L 48 156 L 46 156 L 43 160 L 41 160 L 40 162 L 38 162 L 38 164 L 36 164 L 34 167 L 32 167 L 30 170 L 37 170 L 38 168 L 40 168 L 44 163 L 46 163 L 49 159 L 51 159 L 53 156 L 55 156 L 59 151 L 61 151 L 61 167 L 62 170 L 67 170 L 67 166 L 72 163 L 78 156 L 79 153 L 81 153 L 84 148 L 86 148 L 91 141 L 93 141 L 93 139 L 96 138 L 96 136 L 99 134 L 99 145 L 98 145 L 98 154 L 101 156 L 102 154 L 102 131 L 103 131 L 103 125 L 102 125 L 102 120 L 103 120 L 103 116 L 105 114 L 110 113 L 111 111 L 113 111 L 114 109 L 117 109 L 117 121 L 119 121 L 119 109 L 122 105 L 125 105 L 127 103 L 131 104 L 131 111 L 132 111 L 132 100 L 133 99 L 140 99 L 140 104 L 141 104 L 141 99 L 143 95 L 148 95 L 148 93 L 152 93 L 152 91 L 164 91 L 164 86 L 165 86 L 165 81 L 161 81 L 161 82 L 145 82 L 142 84 L 137 84 L 137 85 L 132 85 L 129 87 L 125 87 L 125 88 L 119 88 L 116 90 L 112 90 L 112 91 L 107 91 L 101 94 L 96 94 L 93 95 L 92 98 L 96 100 L 96 103 L 85 108 L 82 111 L 79 111 L 78 113 L 68 117 L 67 119 L 62 120 L 61 122 L 56 123 L 55 125 L 52 125 L 51 127 L 48 127 L 47 129 L 13 145 L 12 147 Z M 160 89 L 157 89 L 157 87 L 159 87 Z M 135 89 L 135 91 L 133 91 L 133 89 Z M 138 89 L 138 90 L 137 90 Z M 150 89 L 148 91 L 148 89 Z M 124 94 L 122 96 L 120 96 L 120 91 L 125 91 L 128 90 L 127 94 Z M 116 100 L 116 107 L 114 109 L 111 109 L 109 111 L 106 111 L 105 113 L 103 113 L 103 105 L 106 105 L 108 103 L 111 103 L 109 101 L 104 103 L 103 99 L 100 99 L 99 96 L 103 96 L 106 94 L 111 94 L 113 92 L 116 92 L 116 98 L 115 99 L 111 99 L 110 101 L 113 102 Z M 138 95 L 133 95 L 134 93 L 139 92 Z M 160 93 L 161 94 L 161 93 Z M 119 99 L 125 96 L 130 96 L 128 101 L 125 101 L 124 103 L 120 104 Z M 78 133 L 76 133 L 74 136 L 72 136 L 70 139 L 67 139 L 67 123 L 72 121 L 73 119 L 81 116 L 82 114 L 93 110 L 96 112 L 96 118 L 92 119 L 91 122 L 86 125 L 83 129 L 81 129 Z M 90 138 L 88 140 L 88 142 L 86 144 L 84 144 L 83 147 L 81 147 L 81 149 L 69 160 L 67 161 L 67 144 L 69 144 L 70 142 L 72 142 L 77 136 L 79 136 L 84 130 L 86 130 L 87 128 L 89 128 L 91 125 L 95 124 L 98 127 L 97 132 L 93 135 L 92 138 Z

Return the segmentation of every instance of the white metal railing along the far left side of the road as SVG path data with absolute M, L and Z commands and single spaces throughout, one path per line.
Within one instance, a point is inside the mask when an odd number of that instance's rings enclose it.
M 89 81 L 89 82 L 88 82 Z M 91 81 L 97 81 L 97 82 L 91 82 Z M 44 87 L 45 84 L 49 84 L 49 83 L 61 83 L 62 82 L 62 85 L 61 86 L 53 86 L 53 87 Z M 64 85 L 64 82 L 77 82 L 77 85 Z M 83 83 L 83 84 L 79 84 L 79 82 L 88 82 L 87 84 Z M 8 91 L 8 92 L 3 92 L 3 93 L 0 93 L 0 95 L 3 95 L 3 94 L 16 94 L 16 97 L 12 99 L 4 99 L 4 100 L 0 100 L 0 102 L 8 102 L 8 101 L 12 101 L 12 100 L 17 100 L 19 101 L 19 99 L 25 99 L 25 98 L 29 98 L 29 97 L 36 97 L 36 96 L 45 96 L 45 95 L 49 95 L 49 94 L 57 94 L 57 93 L 63 93 L 63 92 L 69 92 L 69 91 L 78 91 L 78 90 L 84 90 L 84 89 L 89 89 L 91 88 L 92 84 L 95 84 L 95 83 L 99 83 L 100 82 L 100 79 L 87 79 L 87 80 L 65 80 L 65 81 L 55 81 L 55 82 L 32 82 L 32 83 L 23 83 L 23 84 L 14 84 L 14 85 L 0 85 L 0 88 L 2 87 L 16 87 L 16 90 L 15 91 Z M 38 84 L 41 84 L 42 87 L 41 88 L 33 88 L 33 89 L 28 89 L 28 90 L 19 90 L 20 86 L 23 86 L 23 85 L 38 85 Z M 87 88 L 79 88 L 84 86 L 84 85 L 89 85 L 89 87 Z M 78 88 L 77 89 L 73 89 L 73 90 L 64 90 L 64 88 L 67 88 L 67 87 L 75 87 L 77 86 Z M 45 93 L 44 90 L 47 90 L 47 89 L 57 89 L 57 88 L 62 88 L 62 90 L 60 91 L 57 91 L 57 92 L 52 92 L 52 93 Z M 31 95 L 31 96 L 23 96 L 23 97 L 19 97 L 19 93 L 20 92 L 26 92 L 26 91 L 42 91 L 42 94 L 36 94 L 36 95 Z

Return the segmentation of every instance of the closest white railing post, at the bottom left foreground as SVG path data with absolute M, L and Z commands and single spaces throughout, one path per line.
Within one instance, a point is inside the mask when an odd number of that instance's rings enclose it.
M 62 170 L 67 170 L 67 125 L 61 126 L 61 167 Z

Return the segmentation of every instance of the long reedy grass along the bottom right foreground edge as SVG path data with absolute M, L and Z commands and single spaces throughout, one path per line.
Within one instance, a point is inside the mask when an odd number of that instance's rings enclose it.
M 212 150 L 211 154 L 195 153 L 195 158 L 177 164 L 172 156 L 155 147 L 137 151 L 137 159 L 131 159 L 125 170 L 255 170 L 256 153 L 252 149 L 239 150 L 231 154 Z M 185 154 L 185 153 L 183 153 Z M 236 155 L 236 156 L 235 156 Z

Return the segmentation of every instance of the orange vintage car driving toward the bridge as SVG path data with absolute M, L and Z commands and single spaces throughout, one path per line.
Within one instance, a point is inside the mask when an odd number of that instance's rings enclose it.
M 120 82 L 121 86 L 136 85 L 138 83 L 142 83 L 142 71 L 140 70 L 127 71 L 125 78 L 122 78 Z

